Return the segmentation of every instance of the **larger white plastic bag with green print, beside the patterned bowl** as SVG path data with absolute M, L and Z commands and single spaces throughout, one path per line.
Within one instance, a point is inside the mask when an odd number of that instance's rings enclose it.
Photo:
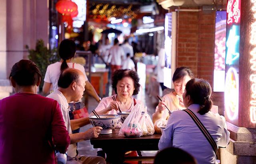
M 118 136 L 140 137 L 142 136 L 141 126 L 139 124 L 142 113 L 142 105 L 136 104 L 134 109 L 122 124 Z

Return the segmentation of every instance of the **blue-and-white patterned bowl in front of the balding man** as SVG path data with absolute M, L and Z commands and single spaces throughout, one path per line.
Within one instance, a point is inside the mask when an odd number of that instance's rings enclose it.
M 89 120 L 92 126 L 100 126 L 103 129 L 100 134 L 111 134 L 112 129 L 116 128 L 116 125 L 120 121 L 119 115 L 100 115 L 100 118 L 96 116 L 90 116 Z

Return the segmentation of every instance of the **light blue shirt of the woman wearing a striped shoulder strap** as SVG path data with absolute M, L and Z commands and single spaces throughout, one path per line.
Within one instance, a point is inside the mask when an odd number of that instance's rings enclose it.
M 226 147 L 230 132 L 227 130 L 225 118 L 219 114 L 208 112 L 200 115 L 200 106 L 192 104 L 188 107 L 204 124 L 217 146 Z M 199 130 L 191 117 L 184 111 L 173 111 L 158 143 L 159 150 L 170 146 L 181 148 L 190 153 L 198 164 L 215 164 L 216 156 L 204 134 Z

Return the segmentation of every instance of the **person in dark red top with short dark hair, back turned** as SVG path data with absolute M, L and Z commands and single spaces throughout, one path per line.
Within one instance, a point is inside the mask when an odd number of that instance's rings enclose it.
M 15 63 L 16 94 L 0 100 L 0 164 L 54 164 L 54 149 L 70 143 L 57 101 L 36 94 L 41 73 L 29 60 Z

